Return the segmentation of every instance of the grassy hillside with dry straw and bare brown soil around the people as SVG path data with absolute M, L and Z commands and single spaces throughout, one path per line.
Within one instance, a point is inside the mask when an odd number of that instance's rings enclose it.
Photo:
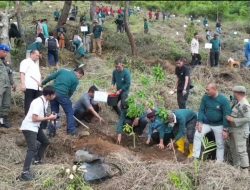
M 88 12 L 89 2 L 74 2 L 79 7 L 77 22 L 67 21 L 66 27 L 69 36 L 73 36 L 73 29 L 77 29 L 79 15 Z M 103 3 L 104 5 L 106 3 Z M 109 5 L 109 4 L 108 4 Z M 35 25 L 31 22 L 33 18 L 48 18 L 49 29 L 53 30 L 56 22 L 53 19 L 55 8 L 61 9 L 63 3 L 60 1 L 34 2 L 32 7 L 24 7 L 23 26 L 27 43 L 34 40 Z M 117 8 L 114 5 L 114 8 Z M 95 84 L 101 90 L 108 91 L 111 84 L 111 75 L 114 69 L 114 60 L 122 55 L 126 58 L 126 67 L 132 73 L 131 96 L 138 94 L 145 96 L 144 101 L 153 101 L 155 106 L 165 107 L 169 110 L 176 109 L 176 94 L 170 95 L 176 83 L 174 74 L 175 58 L 183 56 L 191 60 L 190 45 L 186 42 L 186 28 L 190 21 L 185 15 L 175 18 L 149 23 L 149 34 L 143 33 L 143 18 L 147 16 L 147 10 L 140 14 L 131 15 L 130 27 L 136 39 L 138 57 L 131 56 L 131 49 L 126 33 L 116 33 L 114 18 L 107 17 L 104 23 L 104 48 L 101 57 L 91 56 L 85 59 L 85 76 L 80 81 L 76 93 L 72 97 L 75 102 L 83 92 Z M 207 65 L 208 52 L 205 46 L 205 31 L 202 26 L 203 17 L 194 21 L 195 29 L 201 36 L 202 66 L 192 68 L 192 90 L 188 108 L 198 110 L 202 95 L 205 93 L 209 82 L 216 82 L 220 91 L 226 96 L 232 94 L 234 85 L 244 85 L 250 88 L 249 70 L 245 68 L 230 69 L 227 60 L 229 57 L 244 62 L 243 40 L 249 38 L 246 33 L 244 20 L 223 22 L 223 34 L 221 36 L 223 48 L 220 57 L 220 67 L 210 68 Z M 215 22 L 209 20 L 211 30 L 215 30 Z M 235 35 L 234 32 L 237 31 Z M 178 32 L 178 35 L 177 35 Z M 18 84 L 18 68 L 20 61 L 25 57 L 25 46 L 21 46 L 12 52 L 12 61 L 16 67 L 15 79 Z M 46 77 L 52 69 L 45 67 L 47 52 L 43 52 L 41 73 Z M 62 68 L 73 68 L 75 66 L 73 52 L 65 49 L 60 52 L 60 63 Z M 155 81 L 154 68 L 161 68 L 164 77 L 161 81 Z M 78 189 L 100 189 L 100 190 L 127 190 L 127 189 L 249 189 L 250 178 L 240 170 L 235 169 L 228 163 L 215 163 L 214 161 L 202 162 L 197 165 L 190 162 L 178 152 L 167 149 L 159 150 L 156 146 L 147 146 L 145 138 L 136 138 L 136 148 L 133 148 L 132 137 L 125 136 L 121 145 L 116 143 L 116 123 L 118 117 L 106 104 L 101 104 L 101 116 L 105 123 L 100 125 L 98 121 L 87 124 L 90 127 L 90 136 L 72 138 L 65 134 L 65 116 L 61 119 L 62 127 L 57 135 L 51 138 L 51 144 L 45 156 L 45 164 L 32 166 L 36 178 L 32 182 L 20 182 L 16 177 L 21 173 L 24 156 L 26 154 L 23 135 L 19 131 L 23 120 L 23 94 L 18 86 L 17 92 L 13 94 L 14 105 L 11 110 L 12 125 L 10 129 L 0 128 L 0 189 L 70 189 L 73 183 L 81 186 Z M 62 112 L 63 113 L 63 112 Z M 85 128 L 79 128 L 81 133 Z M 72 182 L 65 174 L 65 168 L 72 168 L 74 155 L 77 150 L 85 149 L 93 154 L 104 158 L 105 161 L 113 163 L 121 169 L 121 175 L 99 184 L 85 184 L 83 181 Z M 230 156 L 227 158 L 230 160 Z M 228 161 L 227 160 L 227 161 Z M 81 176 L 80 176 L 81 177 Z M 72 186 L 71 186 L 72 188 Z M 73 188 L 74 189 L 74 188 Z M 76 188 L 77 189 L 77 188 Z

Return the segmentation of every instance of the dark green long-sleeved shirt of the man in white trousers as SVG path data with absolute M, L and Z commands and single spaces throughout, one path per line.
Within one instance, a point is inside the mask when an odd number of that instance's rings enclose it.
M 198 121 L 212 126 L 223 125 L 227 128 L 227 115 L 231 114 L 230 103 L 225 96 L 219 94 L 213 98 L 204 95 L 201 100 Z

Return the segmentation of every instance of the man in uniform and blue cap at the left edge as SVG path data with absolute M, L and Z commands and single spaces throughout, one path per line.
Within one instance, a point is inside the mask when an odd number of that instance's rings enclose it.
M 10 128 L 9 111 L 11 106 L 11 87 L 15 91 L 12 69 L 6 61 L 9 46 L 0 44 L 0 126 Z

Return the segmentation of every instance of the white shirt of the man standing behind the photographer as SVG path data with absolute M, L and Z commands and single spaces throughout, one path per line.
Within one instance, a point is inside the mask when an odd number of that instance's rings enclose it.
M 37 81 L 41 82 L 39 63 L 34 62 L 31 58 L 24 59 L 20 63 L 20 73 L 25 74 L 24 82 L 27 89 L 38 90 Z

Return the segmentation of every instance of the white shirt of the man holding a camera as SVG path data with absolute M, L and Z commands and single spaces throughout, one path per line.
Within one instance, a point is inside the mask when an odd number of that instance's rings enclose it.
M 43 99 L 44 104 L 41 98 Z M 32 115 L 35 114 L 40 117 L 44 117 L 44 105 L 45 105 L 45 111 L 46 111 L 48 108 L 48 101 L 46 101 L 44 96 L 40 96 L 31 102 L 30 109 L 20 127 L 21 130 L 28 130 L 28 131 L 33 131 L 33 132 L 38 133 L 38 129 L 40 127 L 41 122 L 33 122 Z

